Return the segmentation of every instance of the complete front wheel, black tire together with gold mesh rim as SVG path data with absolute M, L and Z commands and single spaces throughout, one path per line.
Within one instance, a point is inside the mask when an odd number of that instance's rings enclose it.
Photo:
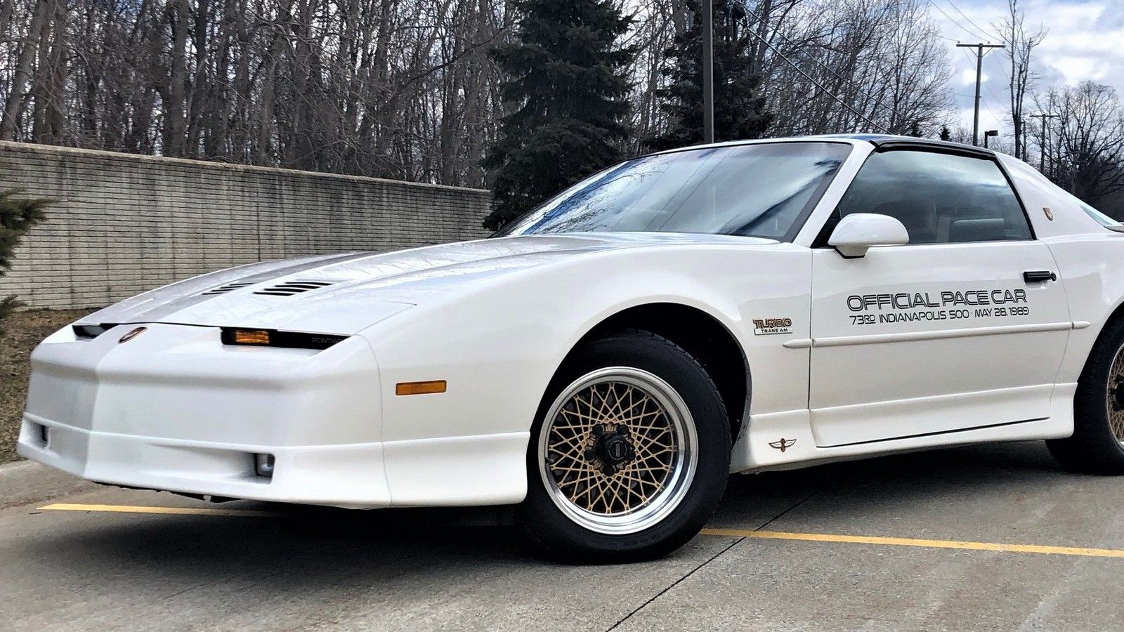
M 638 329 L 593 341 L 543 398 L 520 524 L 560 560 L 662 557 L 714 513 L 729 445 L 722 397 L 689 353 Z

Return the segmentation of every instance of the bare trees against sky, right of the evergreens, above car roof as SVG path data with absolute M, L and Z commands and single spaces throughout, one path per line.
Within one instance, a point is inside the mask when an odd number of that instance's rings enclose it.
M 762 0 L 750 11 L 771 134 L 934 136 L 950 120 L 948 53 L 923 0 Z

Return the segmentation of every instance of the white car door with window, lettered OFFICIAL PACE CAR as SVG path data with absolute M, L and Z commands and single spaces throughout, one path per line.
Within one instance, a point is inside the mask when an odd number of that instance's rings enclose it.
M 844 259 L 841 217 L 899 219 L 909 244 Z M 1057 265 L 994 157 L 870 155 L 813 252 L 809 408 L 821 446 L 1050 416 L 1071 329 Z

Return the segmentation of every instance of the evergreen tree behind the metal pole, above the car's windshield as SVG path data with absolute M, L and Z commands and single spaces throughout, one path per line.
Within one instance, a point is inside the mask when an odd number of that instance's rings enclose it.
M 761 76 L 753 72 L 750 26 L 745 10 L 734 0 L 714 4 L 714 138 L 758 138 L 772 115 L 759 93 Z M 669 150 L 703 142 L 703 25 L 699 0 L 688 0 L 695 19 L 676 36 L 662 74 L 670 83 L 656 90 L 660 108 L 668 115 L 668 129 L 647 139 L 652 150 Z

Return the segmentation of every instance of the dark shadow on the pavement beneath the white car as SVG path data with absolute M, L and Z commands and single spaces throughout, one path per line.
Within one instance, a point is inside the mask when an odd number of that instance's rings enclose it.
M 1041 442 L 738 475 L 731 478 L 726 498 L 711 524 L 761 527 L 813 496 L 827 502 L 803 507 L 806 514 L 831 514 L 840 507 L 846 507 L 851 515 L 898 514 L 904 506 L 917 503 L 950 498 L 987 502 L 997 494 L 1009 495 L 1023 488 L 1069 485 L 1075 476 L 1054 466 Z M 769 506 L 769 511 L 758 511 L 751 520 L 752 508 L 760 505 Z M 102 514 L 106 520 L 94 526 L 71 524 L 44 530 L 31 547 L 39 560 L 56 567 L 56 571 L 110 565 L 128 568 L 129 574 L 202 580 L 252 568 L 263 581 L 284 576 L 305 586 L 338 585 L 342 578 L 363 584 L 408 576 L 410 581 L 418 581 L 481 565 L 543 565 L 522 544 L 517 530 L 502 524 L 509 517 L 507 509 L 362 512 L 248 503 L 219 507 L 265 508 L 278 515 Z M 677 553 L 690 554 L 690 547 Z

